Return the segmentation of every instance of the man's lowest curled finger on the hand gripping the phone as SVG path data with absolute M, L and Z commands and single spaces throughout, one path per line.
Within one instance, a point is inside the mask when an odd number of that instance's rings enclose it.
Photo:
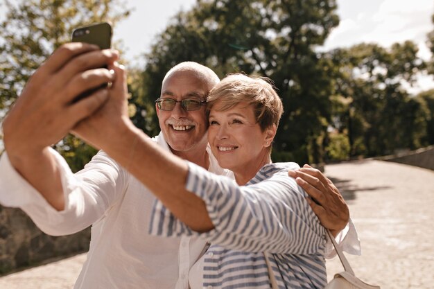
M 108 96 L 108 89 L 99 89 L 87 98 L 73 103 L 68 110 L 71 128 L 98 110 L 107 101 Z

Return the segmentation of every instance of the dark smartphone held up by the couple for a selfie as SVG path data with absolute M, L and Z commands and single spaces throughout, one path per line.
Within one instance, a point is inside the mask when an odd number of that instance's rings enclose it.
M 110 49 L 112 43 L 112 26 L 107 22 L 76 28 L 72 31 L 72 42 L 86 42 L 98 45 L 100 49 Z M 107 68 L 104 66 L 104 68 Z M 98 89 L 107 87 L 107 83 L 94 89 L 89 89 L 74 98 L 73 103 L 93 94 Z

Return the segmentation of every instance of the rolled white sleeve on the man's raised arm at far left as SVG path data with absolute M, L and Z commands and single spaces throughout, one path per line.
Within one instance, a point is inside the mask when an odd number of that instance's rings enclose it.
M 8 155 L 0 159 L 0 204 L 19 207 L 46 234 L 73 234 L 101 218 L 121 196 L 128 175 L 104 152 L 98 154 L 80 172 L 73 174 L 67 162 L 55 150 L 62 179 L 65 208 L 57 211 L 13 168 Z

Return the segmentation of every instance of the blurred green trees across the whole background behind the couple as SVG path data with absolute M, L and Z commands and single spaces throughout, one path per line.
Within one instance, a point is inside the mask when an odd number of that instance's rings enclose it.
M 73 28 L 98 21 L 116 26 L 131 12 L 119 0 L 2 1 L 0 119 Z M 405 87 L 421 73 L 434 75 L 434 15 L 426 35 L 431 60 L 420 58 L 411 41 L 318 52 L 339 24 L 337 8 L 335 0 L 197 1 L 155 37 L 144 65 L 129 69 L 132 121 L 150 136 L 159 132 L 153 100 L 162 78 L 191 60 L 220 78 L 242 71 L 274 81 L 285 107 L 274 161 L 340 161 L 434 144 L 434 89 L 411 95 Z M 74 171 L 96 152 L 71 135 L 55 148 Z

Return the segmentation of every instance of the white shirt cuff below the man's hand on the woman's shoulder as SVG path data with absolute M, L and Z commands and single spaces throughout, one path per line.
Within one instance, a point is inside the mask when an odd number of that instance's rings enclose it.
M 351 218 L 349 219 L 347 226 L 335 237 L 335 240 L 342 251 L 358 256 L 362 254 L 361 243 L 358 239 L 356 226 L 354 226 Z M 327 259 L 332 259 L 336 256 L 336 250 L 328 238 L 325 256 Z

